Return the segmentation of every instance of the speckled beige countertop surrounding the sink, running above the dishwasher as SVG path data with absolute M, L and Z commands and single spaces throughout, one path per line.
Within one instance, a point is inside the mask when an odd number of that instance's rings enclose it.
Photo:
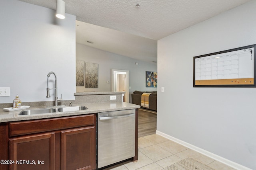
M 43 114 L 34 114 L 34 115 L 18 115 L 18 113 L 20 113 L 22 110 L 3 111 L 1 109 L 0 110 L 0 122 L 45 119 L 45 118 L 50 118 L 50 117 L 84 115 L 84 114 L 98 113 L 98 112 L 105 112 L 105 111 L 116 111 L 116 110 L 127 110 L 127 109 L 140 108 L 139 105 L 130 104 L 130 103 L 126 103 L 126 102 L 105 102 L 105 103 L 88 103 L 88 104 L 85 103 L 85 104 L 77 104 L 77 105 L 73 105 L 73 106 L 85 106 L 88 109 L 80 110 L 80 111 L 43 113 Z M 59 106 L 59 107 L 61 107 L 61 106 Z M 28 109 L 39 109 L 39 108 L 46 108 L 46 107 L 30 107 Z M 26 109 L 23 109 L 23 110 L 26 110 Z

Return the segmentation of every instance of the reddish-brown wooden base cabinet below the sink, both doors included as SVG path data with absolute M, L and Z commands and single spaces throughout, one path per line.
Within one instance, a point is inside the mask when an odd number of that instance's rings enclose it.
M 96 169 L 96 114 L 0 123 L 0 170 Z M 16 162 L 18 161 L 18 162 Z

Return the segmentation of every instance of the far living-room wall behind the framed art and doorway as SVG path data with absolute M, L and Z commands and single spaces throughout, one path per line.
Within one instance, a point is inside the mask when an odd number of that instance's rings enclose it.
M 98 88 L 77 86 L 77 92 L 111 92 L 111 83 L 107 83 L 107 81 L 111 82 L 111 69 L 130 70 L 130 94 L 135 90 L 157 90 L 157 88 L 146 88 L 146 71 L 157 71 L 157 65 L 154 63 L 138 61 L 79 43 L 76 43 L 76 59 L 98 64 Z M 130 102 L 132 102 L 131 96 Z

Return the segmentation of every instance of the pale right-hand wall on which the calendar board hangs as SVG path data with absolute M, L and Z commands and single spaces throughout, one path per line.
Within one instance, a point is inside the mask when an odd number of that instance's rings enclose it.
M 252 0 L 158 41 L 157 130 L 252 169 L 256 88 L 193 88 L 193 57 L 256 44 L 255 9 Z

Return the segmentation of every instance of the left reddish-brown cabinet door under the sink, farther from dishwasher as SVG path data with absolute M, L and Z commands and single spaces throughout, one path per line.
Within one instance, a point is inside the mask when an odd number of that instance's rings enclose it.
M 55 134 L 10 139 L 11 170 L 54 170 Z

